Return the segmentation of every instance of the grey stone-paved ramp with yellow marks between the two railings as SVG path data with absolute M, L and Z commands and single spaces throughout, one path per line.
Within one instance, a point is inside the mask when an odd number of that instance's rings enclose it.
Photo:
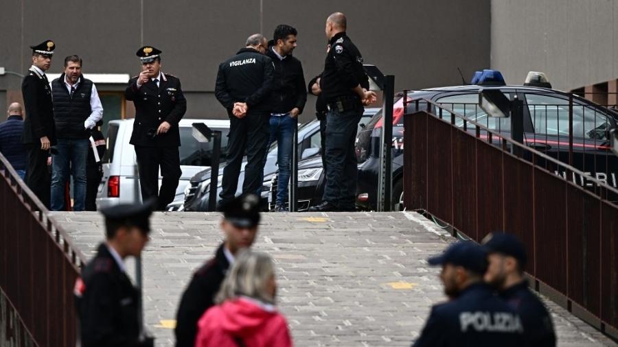
M 98 213 L 53 213 L 88 259 L 104 235 Z M 173 346 L 169 320 L 192 272 L 222 241 L 218 213 L 155 213 L 144 251 L 145 321 Z M 428 256 L 455 241 L 417 213 L 266 213 L 255 249 L 277 266 L 279 309 L 295 346 L 410 346 L 445 300 Z M 133 269 L 128 261 L 128 269 Z M 545 299 L 558 346 L 615 346 Z

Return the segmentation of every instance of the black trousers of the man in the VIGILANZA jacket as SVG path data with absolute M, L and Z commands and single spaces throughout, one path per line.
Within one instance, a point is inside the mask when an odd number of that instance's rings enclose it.
M 268 112 L 249 112 L 242 119 L 230 117 L 227 164 L 223 168 L 221 203 L 234 198 L 238 189 L 238 176 L 242 157 L 247 154 L 247 166 L 244 167 L 242 193 L 260 196 L 264 182 L 264 156 L 270 138 L 271 128 Z

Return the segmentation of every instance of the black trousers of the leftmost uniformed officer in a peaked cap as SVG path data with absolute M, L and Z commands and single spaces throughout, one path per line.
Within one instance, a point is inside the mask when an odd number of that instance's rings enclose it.
M 47 166 L 49 151 L 41 149 L 41 144 L 36 143 L 27 146 L 28 168 L 26 170 L 25 184 L 36 195 L 38 200 L 49 209 L 52 198 L 52 173 Z

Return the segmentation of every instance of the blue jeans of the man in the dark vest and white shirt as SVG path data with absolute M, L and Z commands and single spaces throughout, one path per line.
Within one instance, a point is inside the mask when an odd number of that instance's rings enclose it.
M 89 148 L 88 139 L 58 139 L 57 152 L 52 154 L 52 211 L 65 209 L 65 186 L 69 180 L 69 168 L 73 175 L 73 211 L 84 211 Z

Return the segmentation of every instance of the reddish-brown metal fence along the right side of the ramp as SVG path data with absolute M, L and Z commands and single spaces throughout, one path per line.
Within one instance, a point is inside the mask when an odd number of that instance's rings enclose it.
M 534 288 L 617 338 L 618 206 L 608 198 L 618 190 L 431 101 L 405 110 L 405 206 L 475 241 L 518 235 Z

